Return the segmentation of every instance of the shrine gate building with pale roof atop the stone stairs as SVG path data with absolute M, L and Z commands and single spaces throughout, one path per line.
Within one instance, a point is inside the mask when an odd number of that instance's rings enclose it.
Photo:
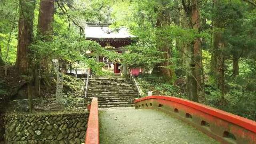
M 130 45 L 132 38 L 135 36 L 130 35 L 127 28 L 121 27 L 112 30 L 109 28 L 110 25 L 111 24 L 87 23 L 85 31 L 86 40 L 96 41 L 106 50 L 122 54 L 124 46 Z M 108 58 L 98 56 L 96 60 L 98 62 L 104 62 L 105 66 L 103 69 L 114 74 L 121 74 L 123 67 L 127 69 L 127 66 L 122 66 L 119 59 L 108 60 Z M 126 72 L 126 70 L 124 71 Z

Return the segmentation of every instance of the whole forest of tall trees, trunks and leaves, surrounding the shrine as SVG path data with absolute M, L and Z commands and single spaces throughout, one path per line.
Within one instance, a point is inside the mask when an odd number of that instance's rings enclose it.
M 136 38 L 125 54 L 110 52 L 86 40 L 87 23 Z M 39 71 L 55 84 L 54 58 L 104 75 L 96 56 L 142 68 L 159 84 L 182 82 L 186 91 L 172 95 L 256 120 L 255 0 L 0 1 L 0 66 L 15 63 L 28 85 L 37 86 Z

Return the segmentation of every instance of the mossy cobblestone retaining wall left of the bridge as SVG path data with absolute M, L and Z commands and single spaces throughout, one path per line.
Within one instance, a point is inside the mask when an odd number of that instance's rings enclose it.
M 8 115 L 4 138 L 8 144 L 81 144 L 88 116 L 88 112 Z

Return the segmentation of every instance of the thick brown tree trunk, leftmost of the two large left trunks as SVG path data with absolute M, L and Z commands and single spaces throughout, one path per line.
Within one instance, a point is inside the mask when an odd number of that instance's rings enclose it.
M 20 0 L 18 48 L 16 66 L 20 72 L 28 70 L 29 46 L 33 41 L 33 20 L 35 0 Z

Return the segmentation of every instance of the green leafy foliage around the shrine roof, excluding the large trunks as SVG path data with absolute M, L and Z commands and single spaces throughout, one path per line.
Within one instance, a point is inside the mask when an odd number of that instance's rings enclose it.
M 19 4 L 19 2 L 22 2 Z M 20 14 L 21 8 L 30 8 L 36 2 L 34 17 Z M 34 18 L 35 41 L 30 46 L 30 59 L 35 67 L 46 60 L 59 58 L 72 64 L 89 66 L 95 75 L 104 75 L 104 63 L 96 62 L 96 56 L 106 56 L 110 60 L 120 59 L 130 68 L 141 67 L 152 70 L 164 62 L 163 66 L 174 70 L 174 78 L 162 76 L 142 76 L 138 79 L 144 92 L 153 91 L 156 95 L 185 98 L 184 85 L 175 86 L 189 74 L 188 62 L 191 59 L 190 46 L 195 40 L 202 42 L 202 70 L 206 75 L 206 104 L 234 114 L 256 120 L 256 9 L 242 0 L 200 1 L 200 28 L 192 28 L 189 18 L 180 1 L 174 0 L 64 0 L 56 3 L 54 32 L 46 38 L 37 34 L 39 0 L 2 0 L 0 3 L 0 58 L 4 62 L 15 62 L 18 43 L 18 19 Z M 159 23 L 159 15 L 170 21 Z M 170 16 L 170 17 L 169 17 Z M 113 22 L 111 28 L 126 26 L 136 36 L 134 43 L 127 46 L 125 54 L 110 52 L 97 42 L 85 40 L 83 28 L 86 22 Z M 80 29 L 82 28 L 82 29 Z M 212 72 L 214 34 L 221 35 L 217 52 L 223 55 L 224 98 L 220 91 L 220 72 Z M 48 41 L 44 41 L 48 39 Z M 164 39 L 164 40 L 163 40 Z M 50 41 L 49 41 L 50 40 Z M 170 48 L 171 57 L 164 57 L 160 46 Z M 184 50 L 184 51 L 182 51 Z M 86 52 L 92 52 L 87 54 Z M 182 53 L 182 54 L 181 54 Z M 185 57 L 185 58 L 184 58 Z M 200 56 L 197 56 L 198 58 Z M 239 59 L 239 76 L 232 74 L 234 58 Z M 185 62 L 180 62 L 180 60 Z M 0 60 L 2 62 L 2 60 Z M 54 78 L 54 74 L 45 77 Z M 177 76 L 177 79 L 175 78 Z M 70 90 L 76 91 L 76 82 L 68 77 L 65 82 Z M 176 82 L 175 82 L 176 81 Z M 171 84 L 170 84 L 171 83 Z M 0 82 L 1 85 L 3 85 Z M 0 87 L 1 89 L 1 87 Z M 69 91 L 70 91 L 69 90 Z M 0 90 L 0 94 L 6 93 Z M 68 97 L 72 92 L 67 92 Z M 66 101 L 73 105 L 72 99 Z

